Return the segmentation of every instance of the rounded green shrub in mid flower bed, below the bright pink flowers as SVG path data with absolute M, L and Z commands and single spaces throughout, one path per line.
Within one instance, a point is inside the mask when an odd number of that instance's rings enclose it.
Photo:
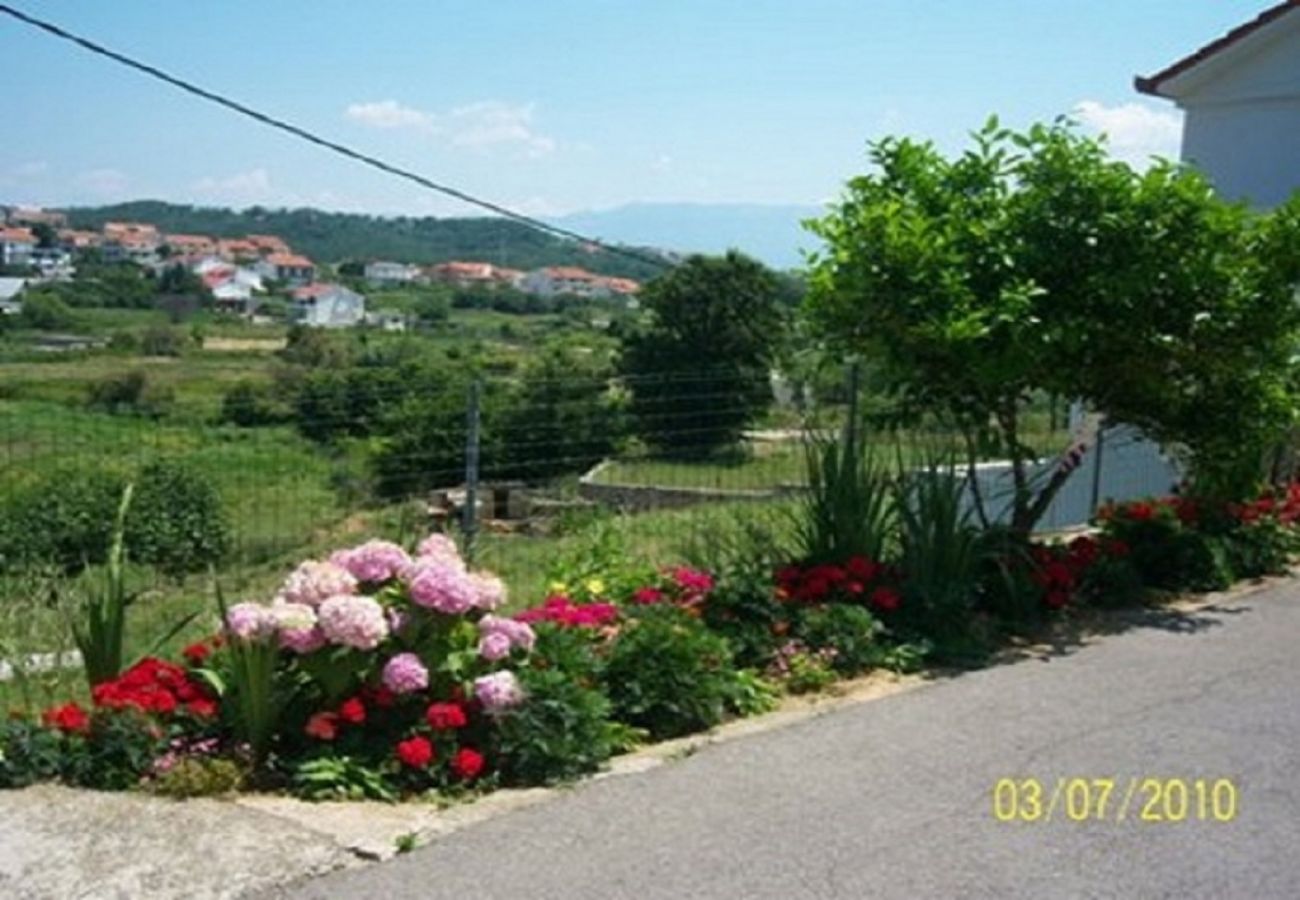
M 670 606 L 649 606 L 620 631 L 604 668 L 614 718 L 662 740 L 723 721 L 736 691 L 727 641 Z

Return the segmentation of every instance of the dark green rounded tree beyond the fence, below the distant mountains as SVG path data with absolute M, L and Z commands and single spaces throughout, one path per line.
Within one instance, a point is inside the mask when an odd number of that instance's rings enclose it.
M 692 256 L 641 293 L 649 321 L 624 336 L 638 436 L 675 457 L 734 445 L 771 402 L 785 329 L 775 273 L 736 251 Z

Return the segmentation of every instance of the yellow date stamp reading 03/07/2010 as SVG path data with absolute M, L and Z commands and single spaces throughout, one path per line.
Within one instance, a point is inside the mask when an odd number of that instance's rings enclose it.
M 1240 791 L 1230 778 L 1001 778 L 998 822 L 1231 822 Z

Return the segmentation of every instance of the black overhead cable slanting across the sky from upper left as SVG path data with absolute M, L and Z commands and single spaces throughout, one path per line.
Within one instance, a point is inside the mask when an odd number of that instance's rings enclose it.
M 493 212 L 493 213 L 500 216 L 502 218 L 508 218 L 508 220 L 516 221 L 516 222 L 519 222 L 521 225 L 526 225 L 529 228 L 537 229 L 538 232 L 545 232 L 545 233 L 552 234 L 555 237 L 568 238 L 571 241 L 578 241 L 578 242 L 590 245 L 593 247 L 599 247 L 601 250 L 603 250 L 603 251 L 606 251 L 608 254 L 615 254 L 618 256 L 624 256 L 627 259 L 633 259 L 633 260 L 636 260 L 638 263 L 646 263 L 649 265 L 655 265 L 655 267 L 659 267 L 659 268 L 663 268 L 663 269 L 672 268 L 672 263 L 670 263 L 668 260 L 664 260 L 664 259 L 660 259 L 660 258 L 656 258 L 656 256 L 647 256 L 647 255 L 640 254 L 640 252 L 637 252 L 634 250 L 628 250 L 627 247 L 619 247 L 619 246 L 615 246 L 615 245 L 606 243 L 606 242 L 601 241 L 599 238 L 592 238 L 592 237 L 588 237 L 588 235 L 581 234 L 578 232 L 573 232 L 573 230 L 569 230 L 567 228 L 562 228 L 559 225 L 552 225 L 550 222 L 542 221 L 541 218 L 534 218 L 534 217 L 528 216 L 525 213 L 516 212 L 516 211 L 514 211 L 514 209 L 511 209 L 508 207 L 503 207 L 499 203 L 493 203 L 491 200 L 484 200 L 482 198 L 474 196 L 473 194 L 468 194 L 468 192 L 465 192 L 463 190 L 459 190 L 456 187 L 451 187 L 450 185 L 438 183 L 438 182 L 436 182 L 436 181 L 433 181 L 430 178 L 425 178 L 424 176 L 421 176 L 421 174 L 419 174 L 416 172 L 411 172 L 410 169 L 403 169 L 400 166 L 391 165 L 391 164 L 385 163 L 384 160 L 381 160 L 381 159 L 378 159 L 376 156 L 370 156 L 369 153 L 363 153 L 361 151 L 352 150 L 351 147 L 341 144 L 341 143 L 338 143 L 335 140 L 330 140 L 329 138 L 322 138 L 322 137 L 320 137 L 318 134 L 316 134 L 313 131 L 308 131 L 304 127 L 299 127 L 298 125 L 294 125 L 292 122 L 287 122 L 287 121 L 285 121 L 282 118 L 277 118 L 277 117 L 270 116 L 268 113 L 257 112 L 256 109 L 254 109 L 251 107 L 247 107 L 247 105 L 244 105 L 244 104 L 242 104 L 242 103 L 239 103 L 237 100 L 231 100 L 228 96 L 224 96 L 224 95 L 217 94 L 214 91 L 209 91 L 207 88 L 199 87 L 198 85 L 195 85 L 192 82 L 188 82 L 188 81 L 185 81 L 183 78 L 178 78 L 176 75 L 172 75 L 172 74 L 164 72 L 162 69 L 159 69 L 157 66 L 152 66 L 152 65 L 150 65 L 147 62 L 140 62 L 139 60 L 135 60 L 135 59 L 133 59 L 130 56 L 126 56 L 125 53 L 118 53 L 117 51 L 109 49 L 108 47 L 104 47 L 101 44 L 95 43 L 94 40 L 90 40 L 87 38 L 82 38 L 81 35 L 77 35 L 77 34 L 73 34 L 72 31 L 68 31 L 66 29 L 60 27 L 58 25 L 55 25 L 53 22 L 47 22 L 46 20 L 40 20 L 40 18 L 36 18 L 35 16 L 30 16 L 30 14 L 22 12 L 21 9 L 14 9 L 13 7 L 10 7 L 8 4 L 0 3 L 0 13 L 5 13 L 6 16 L 10 16 L 10 17 L 18 20 L 20 22 L 23 22 L 23 23 L 30 25 L 30 26 L 32 26 L 35 29 L 39 29 L 39 30 L 46 31 L 48 34 L 52 34 L 56 38 L 60 38 L 62 40 L 72 42 L 72 43 L 77 44 L 78 47 L 90 51 L 91 53 L 107 57 L 107 59 L 113 60 L 114 62 L 120 62 L 121 65 L 125 65 L 125 66 L 127 66 L 130 69 L 135 69 L 136 72 L 142 72 L 146 75 L 150 75 L 151 78 L 156 78 L 159 81 L 166 82 L 168 85 L 172 85 L 173 87 L 178 87 L 182 91 L 186 91 L 187 94 L 192 94 L 192 95 L 195 95 L 198 98 L 202 98 L 204 100 L 208 100 L 211 103 L 216 103 L 217 105 L 225 107 L 226 109 L 233 109 L 234 112 L 237 112 L 237 113 L 239 113 L 242 116 L 247 116 L 248 118 L 256 120 L 256 121 L 261 122 L 263 125 L 268 125 L 268 126 L 270 126 L 273 129 L 278 129 L 281 131 L 286 131 L 286 133 L 294 135 L 295 138 L 302 138 L 303 140 L 313 143 L 313 144 L 316 144 L 318 147 L 324 147 L 326 150 L 332 150 L 335 153 L 339 153 L 339 155 L 346 156 L 346 157 L 348 157 L 351 160 L 355 160 L 358 163 L 368 165 L 368 166 L 370 166 L 373 169 L 378 169 L 380 172 L 385 172 L 385 173 L 387 173 L 390 176 L 396 176 L 398 178 L 404 178 L 407 181 L 415 182 L 416 185 L 419 185 L 419 186 L 421 186 L 421 187 L 424 187 L 426 190 L 437 191 L 438 194 L 443 194 L 446 196 L 454 198 L 454 199 L 460 200 L 463 203 L 468 203 L 471 205 L 476 205 L 476 207 L 478 207 L 481 209 L 486 209 L 489 212 Z

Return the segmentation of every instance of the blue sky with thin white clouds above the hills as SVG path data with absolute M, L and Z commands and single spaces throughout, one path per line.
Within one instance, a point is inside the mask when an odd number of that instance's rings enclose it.
M 1079 111 L 1176 155 L 1149 74 L 1266 0 L 14 0 L 35 16 L 538 215 L 819 203 L 866 140 L 956 150 Z M 0 17 L 0 202 L 161 198 L 464 215 Z M 17 73 L 17 74 L 16 74 Z

